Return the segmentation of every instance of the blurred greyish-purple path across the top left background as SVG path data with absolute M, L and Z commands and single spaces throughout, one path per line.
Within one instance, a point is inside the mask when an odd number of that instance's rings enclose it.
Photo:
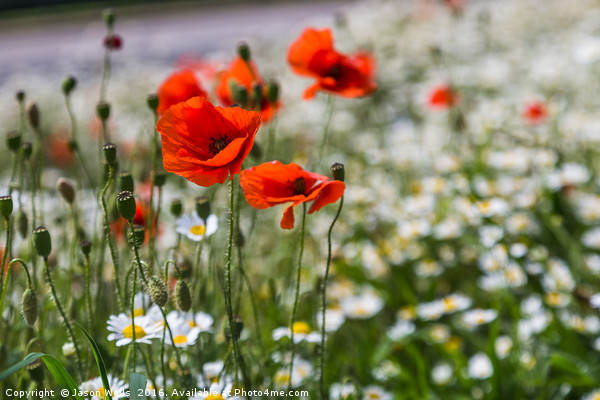
M 127 57 L 170 60 L 294 31 L 307 20 L 333 15 L 349 2 L 192 2 L 117 7 L 116 31 Z M 0 20 L 0 78 L 21 69 L 62 70 L 98 63 L 105 28 L 101 9 Z M 225 47 L 228 46 L 228 47 Z

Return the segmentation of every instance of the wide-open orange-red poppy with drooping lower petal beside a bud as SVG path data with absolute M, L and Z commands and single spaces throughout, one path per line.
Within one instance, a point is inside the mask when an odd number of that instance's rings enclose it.
M 344 182 L 332 181 L 326 176 L 305 171 L 294 163 L 284 165 L 279 161 L 242 171 L 240 185 L 246 201 L 254 208 L 292 203 L 283 213 L 283 229 L 294 227 L 294 206 L 312 201 L 308 210 L 312 214 L 327 204 L 335 203 L 346 188 Z

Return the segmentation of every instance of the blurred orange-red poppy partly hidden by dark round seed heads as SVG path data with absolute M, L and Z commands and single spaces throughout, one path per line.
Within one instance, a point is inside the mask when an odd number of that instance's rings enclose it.
M 241 57 L 236 57 L 229 68 L 221 71 L 217 78 L 217 97 L 224 106 L 230 106 L 236 103 L 233 96 L 231 85 L 235 83 L 238 86 L 246 88 L 248 98 L 252 99 L 252 92 L 256 84 L 261 85 L 260 104 L 251 105 L 253 109 L 260 112 L 263 122 L 268 122 L 273 118 L 280 104 L 271 104 L 267 99 L 267 85 L 262 81 L 256 64 L 252 60 L 246 62 Z

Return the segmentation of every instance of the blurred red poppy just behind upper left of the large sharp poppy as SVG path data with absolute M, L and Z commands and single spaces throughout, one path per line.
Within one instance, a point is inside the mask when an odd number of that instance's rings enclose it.
M 185 69 L 171 74 L 158 89 L 158 113 L 162 114 L 173 104 L 181 103 L 192 97 L 208 97 L 200 87 L 194 73 Z

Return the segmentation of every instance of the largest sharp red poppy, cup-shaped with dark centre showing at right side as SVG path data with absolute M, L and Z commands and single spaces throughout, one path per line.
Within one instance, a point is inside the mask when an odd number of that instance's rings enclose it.
M 156 125 L 163 165 L 200 186 L 223 183 L 242 169 L 259 127 L 258 113 L 193 97 L 165 111 Z

